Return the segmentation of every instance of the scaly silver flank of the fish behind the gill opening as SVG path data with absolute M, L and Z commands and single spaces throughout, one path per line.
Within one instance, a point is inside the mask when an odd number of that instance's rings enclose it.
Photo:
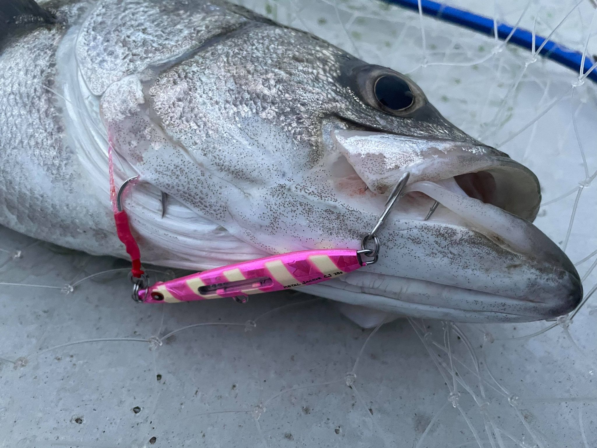
M 106 242 L 110 216 L 66 143 L 54 88 L 61 27 L 38 29 L 0 58 L 0 223 L 64 246 Z M 93 243 L 95 244 L 95 243 Z

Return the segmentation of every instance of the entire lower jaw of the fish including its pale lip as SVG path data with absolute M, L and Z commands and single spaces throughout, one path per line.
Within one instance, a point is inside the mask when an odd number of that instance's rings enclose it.
M 441 205 L 424 220 L 435 201 Z M 395 244 L 398 234 L 404 238 Z M 553 241 L 528 220 L 469 197 L 454 178 L 408 185 L 380 238 L 388 245 L 378 265 L 312 292 L 462 322 L 558 317 L 582 297 L 576 269 Z

